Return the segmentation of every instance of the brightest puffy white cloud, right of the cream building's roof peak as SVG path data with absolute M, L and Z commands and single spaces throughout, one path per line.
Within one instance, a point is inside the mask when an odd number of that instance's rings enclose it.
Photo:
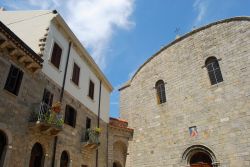
M 103 68 L 115 28 L 129 29 L 134 24 L 130 20 L 133 4 L 134 0 L 71 0 L 67 3 L 70 27 Z

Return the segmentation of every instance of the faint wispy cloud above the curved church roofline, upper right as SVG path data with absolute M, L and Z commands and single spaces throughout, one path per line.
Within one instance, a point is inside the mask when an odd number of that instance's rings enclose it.
M 204 22 L 204 18 L 207 15 L 208 12 L 208 1 L 207 0 L 195 0 L 193 4 L 193 8 L 195 11 L 197 11 L 197 16 L 194 20 L 194 26 L 200 25 L 202 22 Z

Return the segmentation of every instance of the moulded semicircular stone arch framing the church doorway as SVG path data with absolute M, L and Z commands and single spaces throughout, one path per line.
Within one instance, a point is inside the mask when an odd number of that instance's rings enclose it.
M 193 161 L 192 158 L 194 156 L 197 156 L 197 154 L 207 156 L 206 158 L 209 158 L 211 160 L 211 165 L 213 167 L 219 166 L 219 163 L 217 162 L 216 156 L 213 151 L 204 145 L 193 145 L 188 147 L 182 155 L 182 161 L 184 161 L 186 165 L 190 165 L 190 161 Z

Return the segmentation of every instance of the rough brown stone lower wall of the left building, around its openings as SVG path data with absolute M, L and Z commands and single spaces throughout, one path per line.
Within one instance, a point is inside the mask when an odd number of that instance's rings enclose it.
M 11 64 L 20 68 L 23 72 L 18 96 L 12 95 L 4 89 Z M 39 142 L 43 146 L 44 166 L 51 166 L 54 137 L 44 134 L 33 133 L 28 129 L 29 117 L 34 106 L 42 101 L 44 88 L 54 94 L 53 102 L 59 100 L 60 88 L 46 78 L 41 72 L 31 74 L 17 62 L 12 60 L 6 50 L 0 51 L 0 130 L 8 138 L 8 146 L 4 157 L 4 167 L 29 166 L 30 154 L 33 145 Z M 35 105 L 36 104 L 36 105 Z M 70 167 L 95 167 L 96 150 L 88 153 L 89 159 L 84 158 L 82 151 L 83 129 L 86 117 L 91 118 L 92 127 L 97 126 L 97 116 L 89 109 L 71 97 L 67 92 L 62 102 L 62 113 L 64 115 L 66 104 L 77 110 L 76 127 L 64 124 L 63 130 L 58 135 L 55 155 L 55 167 L 60 166 L 62 151 L 67 151 L 70 158 Z M 37 107 L 37 106 L 36 106 Z M 100 136 L 99 167 L 106 167 L 107 163 L 107 123 L 100 120 L 102 133 Z

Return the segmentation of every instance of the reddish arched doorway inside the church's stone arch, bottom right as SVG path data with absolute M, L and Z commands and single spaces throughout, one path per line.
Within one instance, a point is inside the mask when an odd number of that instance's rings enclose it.
M 212 160 L 204 152 L 197 152 L 190 158 L 191 167 L 212 167 Z

